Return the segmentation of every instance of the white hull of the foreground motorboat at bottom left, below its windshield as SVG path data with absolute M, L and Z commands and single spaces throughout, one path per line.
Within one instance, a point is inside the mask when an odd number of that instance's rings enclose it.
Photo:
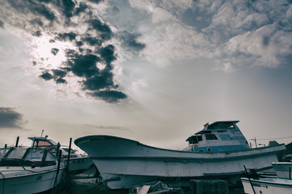
M 32 170 L 31 168 L 27 169 Z M 43 171 L 46 169 L 49 171 Z M 61 164 L 57 185 L 62 179 L 64 169 L 64 165 Z M 31 194 L 47 191 L 53 188 L 57 172 L 57 169 L 55 168 L 52 170 L 51 166 L 42 167 L 41 171 L 43 172 L 37 172 L 37 168 L 32 170 L 35 172 L 31 172 L 23 170 L 22 167 L 9 167 L 10 171 L 2 170 L 6 169 L 1 169 L 0 167 L 0 193 L 2 194 Z

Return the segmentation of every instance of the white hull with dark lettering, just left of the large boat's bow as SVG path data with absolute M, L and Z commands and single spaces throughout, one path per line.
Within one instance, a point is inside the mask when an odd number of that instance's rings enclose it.
M 67 164 L 67 160 L 64 160 L 63 163 Z M 69 158 L 69 171 L 80 174 L 86 171 L 92 163 L 93 161 L 89 157 Z

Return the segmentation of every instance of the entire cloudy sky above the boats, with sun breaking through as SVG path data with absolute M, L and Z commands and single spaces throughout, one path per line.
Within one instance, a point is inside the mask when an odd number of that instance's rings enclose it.
M 232 120 L 252 147 L 291 143 L 291 31 L 291 0 L 1 0 L 1 146 L 181 150 Z

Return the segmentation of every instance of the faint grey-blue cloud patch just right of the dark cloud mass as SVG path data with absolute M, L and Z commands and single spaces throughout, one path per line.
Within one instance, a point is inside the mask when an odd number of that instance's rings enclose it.
M 145 48 L 145 44 L 137 42 L 137 38 L 141 36 L 136 33 L 129 33 L 127 31 L 122 31 L 118 34 L 122 40 L 122 45 L 127 50 L 131 51 L 133 54 L 137 54 Z

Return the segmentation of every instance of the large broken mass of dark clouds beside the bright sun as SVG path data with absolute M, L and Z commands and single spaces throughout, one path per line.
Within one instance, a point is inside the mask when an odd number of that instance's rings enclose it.
M 100 3 L 102 0 L 89 1 Z M 12 25 L 36 37 L 51 36 L 48 39 L 49 43 L 56 41 L 72 43 L 70 49 L 64 50 L 66 60 L 57 64 L 58 68 L 47 69 L 48 66 L 45 65 L 48 58 L 41 58 L 42 56 L 32 62 L 33 66 L 44 64 L 43 67 L 39 67 L 42 71 L 39 78 L 45 81 L 53 80 L 55 84 L 67 84 L 69 77 L 76 77 L 79 80 L 77 83 L 80 84 L 80 91 L 107 103 L 118 103 L 127 98 L 124 92 L 118 91 L 119 86 L 115 83 L 112 72 L 112 62 L 117 57 L 114 45 L 108 44 L 107 41 L 115 34 L 109 25 L 97 19 L 94 8 L 91 7 L 92 3 L 86 4 L 86 1 L 77 3 L 74 0 L 7 0 L 7 2 L 10 4 L 9 8 L 14 9 L 20 18 L 18 23 L 11 20 Z M 114 11 L 118 13 L 119 9 L 116 7 Z M 75 20 L 75 17 L 78 20 Z M 4 26 L 2 23 L 0 22 L 0 27 Z M 76 31 L 64 30 L 68 29 L 67 27 L 70 29 L 76 27 Z M 86 31 L 79 32 L 78 29 L 82 27 Z M 133 36 L 134 40 L 127 45 L 141 50 L 143 45 L 135 41 L 136 37 L 138 35 Z M 51 48 L 51 54 L 54 56 L 58 52 L 58 48 Z

